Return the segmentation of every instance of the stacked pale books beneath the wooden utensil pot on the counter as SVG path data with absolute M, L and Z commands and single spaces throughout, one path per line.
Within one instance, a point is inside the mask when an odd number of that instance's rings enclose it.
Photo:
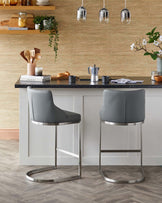
M 33 76 L 33 75 L 21 75 L 20 81 L 26 82 L 49 82 L 51 80 L 50 75 Z

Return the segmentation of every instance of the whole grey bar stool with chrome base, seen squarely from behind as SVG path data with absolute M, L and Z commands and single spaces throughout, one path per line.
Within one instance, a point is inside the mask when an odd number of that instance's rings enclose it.
M 104 179 L 112 183 L 138 183 L 144 181 L 144 171 L 142 167 L 142 123 L 145 119 L 145 90 L 118 91 L 104 90 L 103 105 L 100 111 L 100 143 L 99 143 L 99 171 Z M 101 124 L 108 125 L 137 125 L 140 128 L 140 149 L 134 150 L 107 150 L 102 149 Z M 141 174 L 136 180 L 114 180 L 107 176 L 102 170 L 102 153 L 113 152 L 139 152 L 141 154 Z

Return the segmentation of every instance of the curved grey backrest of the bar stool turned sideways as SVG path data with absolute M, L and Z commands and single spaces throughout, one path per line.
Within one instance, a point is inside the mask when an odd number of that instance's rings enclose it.
M 50 90 L 36 90 L 27 87 L 30 119 L 37 122 L 53 121 L 55 105 Z

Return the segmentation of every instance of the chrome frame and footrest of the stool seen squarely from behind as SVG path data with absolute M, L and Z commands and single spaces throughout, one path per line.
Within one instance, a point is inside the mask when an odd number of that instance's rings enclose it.
M 101 124 L 108 124 L 108 125 L 129 125 L 129 124 L 133 124 L 133 125 L 139 125 L 140 127 L 140 149 L 134 149 L 134 150 L 106 150 L 106 149 L 102 149 L 101 145 L 102 145 L 102 132 L 101 132 Z M 132 183 L 140 183 L 142 181 L 145 180 L 145 176 L 144 176 L 144 170 L 143 170 L 143 165 L 142 165 L 142 123 L 143 122 L 139 122 L 139 123 L 113 123 L 113 122 L 107 122 L 107 121 L 100 121 L 100 144 L 99 144 L 99 172 L 100 174 L 103 176 L 103 178 L 105 179 L 105 181 L 110 182 L 110 183 L 128 183 L 128 184 L 132 184 Z M 101 153 L 120 153 L 120 152 L 136 152 L 136 153 L 140 153 L 141 154 L 141 165 L 140 165 L 140 173 L 141 173 L 141 177 L 137 178 L 137 179 L 131 179 L 131 180 L 115 180 L 112 178 L 109 178 L 108 175 L 106 174 L 106 170 L 102 170 L 102 164 L 101 164 Z

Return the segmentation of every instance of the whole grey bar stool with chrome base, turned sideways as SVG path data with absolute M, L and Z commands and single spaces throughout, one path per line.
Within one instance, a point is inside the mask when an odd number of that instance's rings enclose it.
M 68 124 L 76 124 L 76 123 L 79 124 L 81 121 L 81 115 L 58 108 L 53 102 L 52 92 L 50 90 L 36 90 L 28 87 L 27 93 L 28 93 L 28 101 L 29 101 L 30 119 L 32 123 L 36 125 L 55 126 L 55 166 L 49 166 L 49 167 L 29 171 L 26 173 L 26 178 L 30 181 L 39 182 L 39 183 L 44 183 L 44 182 L 59 183 L 59 182 L 71 181 L 71 180 L 76 180 L 81 178 L 80 125 L 78 126 L 78 136 L 79 136 L 78 154 L 74 154 L 72 152 L 59 149 L 57 147 L 57 127 L 59 125 L 68 125 Z M 37 173 L 57 169 L 57 151 L 71 155 L 79 160 L 78 175 L 65 177 L 65 178 L 64 177 L 56 178 L 56 179 L 38 179 L 38 178 L 32 177 L 32 175 Z

